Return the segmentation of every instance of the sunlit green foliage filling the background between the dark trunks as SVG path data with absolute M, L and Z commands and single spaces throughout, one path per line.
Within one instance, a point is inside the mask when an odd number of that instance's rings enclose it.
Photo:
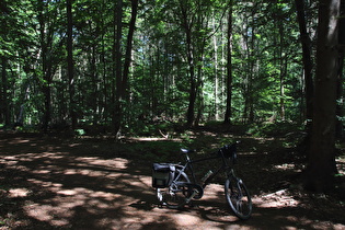
M 45 1 L 42 9 L 31 1 L 7 4 L 18 9 L 0 15 L 5 28 L 0 33 L 0 55 L 4 58 L 0 69 L 5 70 L 1 87 L 8 88 L 4 100 L 10 122 L 15 122 L 24 105 L 24 125 L 41 126 L 47 107 L 51 110 L 50 125 L 71 123 L 65 2 Z M 124 1 L 123 49 L 130 4 Z M 78 0 L 72 4 L 73 110 L 80 124 L 112 124 L 114 72 L 123 68 L 114 65 L 114 7 L 110 0 Z M 223 118 L 229 7 L 223 0 L 140 2 L 128 97 L 123 99 L 124 131 L 160 136 L 158 130 L 174 131 L 176 123 L 186 122 L 192 94 L 186 30 L 194 57 L 195 117 L 198 115 L 200 124 Z M 231 120 L 262 122 L 273 114 L 278 120 L 303 120 L 301 48 L 292 3 L 255 1 L 232 7 Z M 313 15 L 312 9 L 307 10 Z M 313 26 L 310 23 L 310 30 Z M 4 110 L 1 113 L 3 123 Z M 157 117 L 164 117 L 164 122 L 153 122 Z M 257 128 L 252 127 L 252 133 L 260 133 Z

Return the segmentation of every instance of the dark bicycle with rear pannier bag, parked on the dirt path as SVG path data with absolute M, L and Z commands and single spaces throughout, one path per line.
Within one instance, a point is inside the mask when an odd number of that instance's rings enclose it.
M 221 171 L 226 173 L 225 194 L 233 214 L 240 219 L 249 219 L 252 214 L 252 199 L 244 182 L 234 174 L 233 164 L 237 161 L 237 145 L 227 145 L 209 157 L 192 160 L 189 153 L 195 150 L 181 149 L 185 157 L 185 163 L 153 163 L 152 186 L 156 188 L 156 196 L 161 205 L 169 208 L 183 208 L 191 205 L 192 200 L 200 199 L 204 188 Z M 208 171 L 196 183 L 196 175 L 193 164 L 212 159 L 221 159 L 221 165 L 216 172 Z M 191 180 L 191 179 L 192 180 Z

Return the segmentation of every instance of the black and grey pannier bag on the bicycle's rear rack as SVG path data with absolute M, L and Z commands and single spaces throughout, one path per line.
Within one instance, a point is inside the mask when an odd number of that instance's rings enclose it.
M 175 166 L 169 163 L 153 163 L 152 187 L 169 187 L 174 179 Z

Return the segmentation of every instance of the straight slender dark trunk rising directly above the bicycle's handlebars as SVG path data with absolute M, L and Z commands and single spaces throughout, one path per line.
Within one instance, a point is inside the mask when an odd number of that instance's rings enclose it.
M 229 16 L 228 16 L 228 44 L 227 44 L 227 110 L 225 115 L 225 123 L 230 124 L 231 118 L 231 101 L 232 101 L 232 4 L 230 0 Z

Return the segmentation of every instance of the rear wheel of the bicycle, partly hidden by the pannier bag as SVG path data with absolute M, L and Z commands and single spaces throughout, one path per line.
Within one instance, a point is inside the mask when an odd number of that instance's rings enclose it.
M 181 176 L 179 180 L 174 179 L 169 187 L 157 188 L 156 191 L 158 200 L 162 205 L 172 209 L 182 208 L 185 205 L 185 199 L 188 195 L 185 185 L 189 183 L 189 179 L 184 172 L 176 169 L 175 175 L 179 175 L 180 173 Z

